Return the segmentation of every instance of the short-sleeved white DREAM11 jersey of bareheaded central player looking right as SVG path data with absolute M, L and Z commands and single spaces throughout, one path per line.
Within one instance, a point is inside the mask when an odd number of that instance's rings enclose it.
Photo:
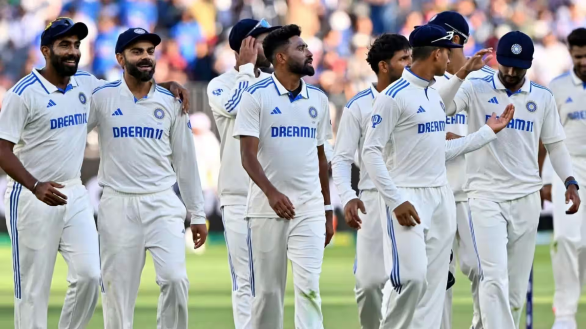
M 292 97 L 272 74 L 248 87 L 240 101 L 234 137 L 254 136 L 268 180 L 291 200 L 295 215 L 323 214 L 317 147 L 332 138 L 328 97 L 301 80 Z M 247 217 L 277 217 L 263 191 L 250 181 Z

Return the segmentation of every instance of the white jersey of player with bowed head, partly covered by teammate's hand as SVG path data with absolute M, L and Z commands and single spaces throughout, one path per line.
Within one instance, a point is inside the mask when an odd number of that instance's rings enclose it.
M 506 90 L 498 73 L 465 81 L 447 113 L 468 112 L 468 130 L 473 132 L 507 104 L 515 105 L 515 117 L 498 140 L 466 156 L 464 191 L 471 198 L 503 202 L 539 191 L 539 139 L 550 144 L 565 138 L 553 94 L 529 79 L 514 93 Z

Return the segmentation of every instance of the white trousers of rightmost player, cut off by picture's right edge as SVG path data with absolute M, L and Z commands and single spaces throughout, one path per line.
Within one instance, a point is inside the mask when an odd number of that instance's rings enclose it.
M 580 185 L 581 200 L 586 200 L 586 157 L 572 157 L 574 177 Z M 554 237 L 551 244 L 551 265 L 556 283 L 553 309 L 556 317 L 575 317 L 582 286 L 586 284 L 586 210 L 566 215 L 570 204 L 565 204 L 565 186 L 553 174 L 552 199 L 554 204 Z

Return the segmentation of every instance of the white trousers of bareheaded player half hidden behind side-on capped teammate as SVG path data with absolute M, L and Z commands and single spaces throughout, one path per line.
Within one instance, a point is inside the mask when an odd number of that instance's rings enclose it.
M 389 276 L 384 268 L 384 242 L 382 218 L 386 211 L 381 207 L 377 190 L 360 191 L 366 214 L 358 211 L 362 227 L 356 234 L 356 303 L 362 329 L 379 329 L 382 320 L 383 288 Z

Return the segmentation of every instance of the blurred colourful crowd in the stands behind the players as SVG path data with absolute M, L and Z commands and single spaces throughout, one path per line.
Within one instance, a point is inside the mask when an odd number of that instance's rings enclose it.
M 237 20 L 301 26 L 316 68 L 315 76 L 305 79 L 328 93 L 336 132 L 346 101 L 376 81 L 366 63 L 373 38 L 384 32 L 408 36 L 414 26 L 450 9 L 468 19 L 468 55 L 496 49 L 510 30 L 532 36 L 536 51 L 529 76 L 546 85 L 571 67 L 565 37 L 586 26 L 585 0 L 0 0 L 0 100 L 33 67 L 44 66 L 40 35 L 58 16 L 86 23 L 90 33 L 81 43 L 79 69 L 110 81 L 122 74 L 114 47 L 123 30 L 159 33 L 164 41 L 157 47 L 155 80 L 189 86 L 200 174 L 206 189 L 214 191 L 219 142 L 205 90 L 207 81 L 236 63 L 227 36 Z M 496 68 L 496 61 L 490 66 Z M 96 152 L 95 135 L 88 148 Z

